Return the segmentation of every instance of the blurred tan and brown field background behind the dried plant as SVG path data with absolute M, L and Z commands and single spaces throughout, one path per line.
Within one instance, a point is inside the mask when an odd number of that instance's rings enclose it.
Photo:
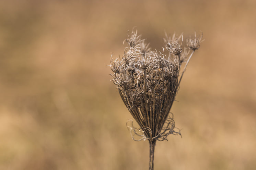
M 147 141 L 109 80 L 127 30 L 161 50 L 164 31 L 203 32 L 157 142 L 155 169 L 256 167 L 254 0 L 0 1 L 0 169 L 148 169 Z

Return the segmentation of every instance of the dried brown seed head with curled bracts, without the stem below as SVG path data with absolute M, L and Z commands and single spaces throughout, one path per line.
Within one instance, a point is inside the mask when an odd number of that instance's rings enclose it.
M 174 130 L 175 122 L 169 113 L 182 78 L 178 79 L 181 64 L 185 61 L 188 63 L 196 47 L 199 47 L 201 38 L 195 37 L 195 40 L 187 40 L 195 47 L 188 48 L 192 51 L 188 57 L 190 51 L 182 49 L 183 36 L 176 38 L 175 35 L 166 35 L 166 55 L 164 48 L 163 52 L 151 51 L 145 39 L 137 35 L 137 30 L 132 30 L 125 40 L 128 47 L 123 57 L 115 60 L 111 58 L 112 81 L 140 126 L 139 129 L 134 128 L 132 121 L 127 126 L 134 140 L 162 141 L 169 134 L 180 134 L 179 130 Z M 135 135 L 141 138 L 135 139 Z

